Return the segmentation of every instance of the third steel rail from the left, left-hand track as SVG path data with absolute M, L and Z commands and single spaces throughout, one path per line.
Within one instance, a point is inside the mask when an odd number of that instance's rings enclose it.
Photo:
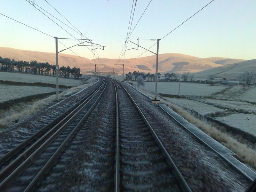
M 106 80 L 103 80 L 104 83 Z M 101 85 L 101 87 L 104 85 L 104 83 Z M 54 126 L 49 132 L 47 132 L 47 136 L 43 136 L 40 138 L 36 143 L 34 143 L 29 150 L 29 154 L 33 152 L 30 156 L 26 155 L 27 151 L 26 150 L 22 155 L 20 155 L 17 159 L 14 160 L 13 162 L 18 163 L 18 167 L 14 170 L 13 167 L 15 166 L 15 163 L 12 162 L 12 166 L 7 167 L 6 170 L 4 169 L 1 172 L 1 175 L 3 176 L 4 173 L 9 173 L 5 174 L 5 179 L 0 183 L 0 188 L 5 189 L 8 188 L 12 182 L 14 182 L 19 175 L 26 170 L 26 168 L 33 163 L 33 161 L 36 159 L 37 156 L 39 156 L 51 143 L 53 140 L 55 140 L 61 132 L 63 132 L 68 125 L 82 112 L 82 110 L 88 105 L 88 103 L 97 95 L 97 93 L 100 91 L 100 88 L 96 90 L 87 100 L 85 100 L 82 104 L 78 106 L 78 110 L 73 111 L 72 115 L 68 115 L 67 118 L 65 117 L 65 122 L 59 123 L 56 126 Z M 48 137 L 49 136 L 49 137 Z M 12 170 L 12 171 L 11 171 Z M 7 176 L 7 177 L 6 177 Z

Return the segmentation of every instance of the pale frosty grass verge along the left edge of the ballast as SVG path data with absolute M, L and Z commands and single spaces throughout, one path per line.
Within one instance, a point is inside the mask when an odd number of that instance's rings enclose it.
M 59 94 L 60 98 L 62 95 L 72 92 L 73 94 L 79 92 L 86 87 L 92 85 L 94 82 L 98 80 L 98 77 L 91 77 L 89 80 L 86 81 L 87 84 L 83 84 L 77 87 L 72 87 L 70 89 L 66 89 Z M 30 87 L 30 86 L 26 86 Z M 10 109 L 0 110 L 0 131 L 1 129 L 5 129 L 15 122 L 12 122 L 14 119 L 19 119 L 19 121 L 28 118 L 29 116 L 34 115 L 38 111 L 49 107 L 50 105 L 54 104 L 53 101 L 56 100 L 56 94 L 51 95 L 47 98 L 41 100 L 33 100 L 27 103 L 18 103 L 15 106 L 12 106 Z

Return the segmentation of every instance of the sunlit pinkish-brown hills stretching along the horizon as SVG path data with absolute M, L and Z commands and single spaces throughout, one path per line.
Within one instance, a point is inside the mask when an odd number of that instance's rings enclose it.
M 48 62 L 50 64 L 55 64 L 55 53 L 47 53 L 47 52 L 36 52 L 36 51 L 27 51 L 27 50 L 19 50 L 8 47 L 0 47 L 0 56 L 8 57 L 10 59 L 15 60 L 37 60 L 38 62 Z M 199 71 L 203 71 L 205 69 L 211 69 L 220 67 L 223 65 L 227 65 L 230 63 L 244 61 L 239 59 L 229 59 L 222 57 L 211 57 L 211 58 L 198 58 L 190 55 L 184 55 L 180 53 L 164 53 L 159 54 L 158 58 L 158 71 L 161 73 L 164 72 L 174 72 L 174 73 L 184 73 L 191 72 L 196 73 Z M 75 55 L 69 54 L 59 54 L 59 65 L 60 66 L 70 66 L 80 68 L 82 71 L 93 71 L 95 70 L 94 64 L 105 64 L 107 67 L 99 68 L 99 71 L 113 71 L 115 68 L 115 72 L 122 72 L 122 68 L 118 68 L 115 64 L 118 62 L 117 59 L 107 59 L 100 58 L 89 60 L 84 57 L 78 57 Z M 134 60 L 125 59 L 119 61 L 120 65 L 124 64 L 124 72 L 127 73 L 129 71 L 140 71 L 145 73 L 154 73 L 156 67 L 156 56 L 148 56 L 148 57 L 140 57 Z

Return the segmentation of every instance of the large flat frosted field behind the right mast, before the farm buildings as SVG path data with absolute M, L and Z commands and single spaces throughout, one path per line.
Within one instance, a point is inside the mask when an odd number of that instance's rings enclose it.
M 155 92 L 155 82 L 145 82 L 145 88 Z M 180 95 L 210 96 L 226 86 L 180 82 Z M 157 82 L 157 92 L 178 95 L 179 82 Z

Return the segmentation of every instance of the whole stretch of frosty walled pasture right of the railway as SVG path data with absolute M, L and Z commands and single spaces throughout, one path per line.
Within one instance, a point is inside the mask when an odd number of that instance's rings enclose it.
M 157 92 L 177 95 L 178 86 L 178 82 L 158 82 Z M 145 82 L 145 86 L 140 89 L 152 93 L 155 91 L 155 83 Z M 190 112 L 213 117 L 256 136 L 256 105 L 254 105 L 256 88 L 254 86 L 209 86 L 209 84 L 180 82 L 180 95 L 186 98 L 164 97 L 164 99 Z

